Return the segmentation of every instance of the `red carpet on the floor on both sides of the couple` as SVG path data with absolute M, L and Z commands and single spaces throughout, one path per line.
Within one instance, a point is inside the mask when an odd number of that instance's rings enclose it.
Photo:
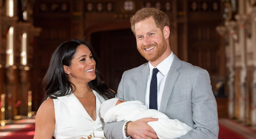
M 0 129 L 0 139 L 32 139 L 35 133 L 35 120 L 23 119 L 16 124 Z M 256 130 L 230 119 L 219 119 L 219 139 L 256 139 Z

